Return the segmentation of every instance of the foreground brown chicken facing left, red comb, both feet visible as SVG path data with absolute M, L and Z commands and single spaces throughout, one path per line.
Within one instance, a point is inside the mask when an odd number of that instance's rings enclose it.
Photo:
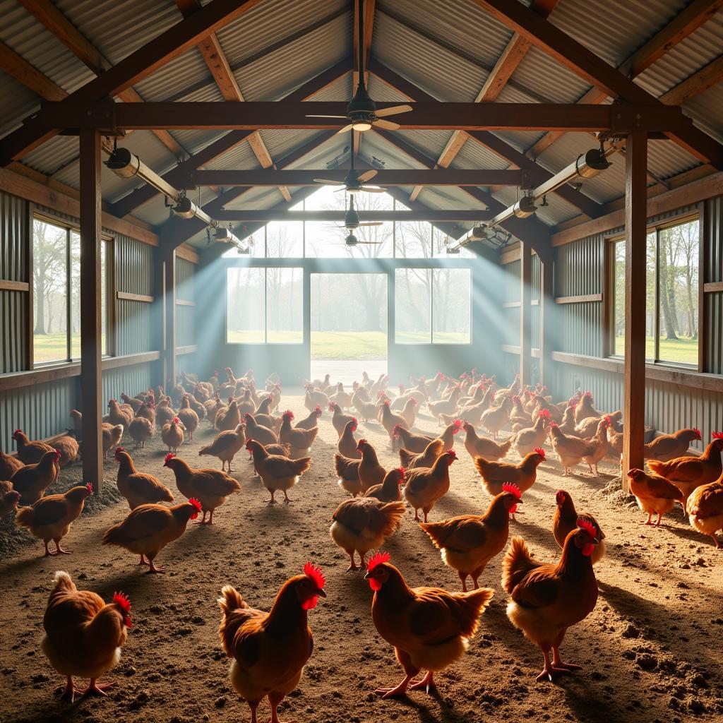
M 429 689 L 435 672 L 460 659 L 474 637 L 494 591 L 448 592 L 436 587 L 410 588 L 389 562 L 388 552 L 369 560 L 366 579 L 374 591 L 372 620 L 380 636 L 394 646 L 404 678 L 392 688 L 379 688 L 382 698 L 403 696 L 406 690 Z M 426 671 L 421 680 L 414 680 Z

